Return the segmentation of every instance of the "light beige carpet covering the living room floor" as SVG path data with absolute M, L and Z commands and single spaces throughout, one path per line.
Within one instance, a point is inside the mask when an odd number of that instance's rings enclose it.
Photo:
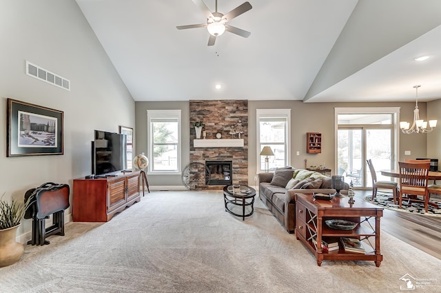
M 221 192 L 151 192 L 108 223 L 68 223 L 50 245 L 25 245 L 0 268 L 0 292 L 400 292 L 404 274 L 441 292 L 441 261 L 385 232 L 380 267 L 318 267 L 259 199 L 255 208 L 242 221 Z

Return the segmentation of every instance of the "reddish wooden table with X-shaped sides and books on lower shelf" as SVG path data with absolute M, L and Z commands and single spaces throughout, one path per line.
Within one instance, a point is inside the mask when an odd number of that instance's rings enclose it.
M 362 199 L 349 204 L 348 199 L 334 197 L 330 201 L 316 200 L 312 194 L 296 194 L 296 238 L 316 256 L 319 266 L 322 261 L 374 261 L 379 267 L 383 259 L 380 253 L 380 217 L 383 209 Z M 375 221 L 371 218 L 375 218 Z M 352 230 L 335 230 L 326 225 L 327 219 L 344 219 L 358 225 Z M 345 252 L 341 243 L 338 251 L 327 252 L 322 248 L 323 237 L 360 239 L 367 243 L 365 253 Z

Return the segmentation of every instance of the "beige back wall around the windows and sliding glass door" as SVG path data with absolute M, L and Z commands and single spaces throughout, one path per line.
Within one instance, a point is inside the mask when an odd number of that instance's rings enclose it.
M 441 101 L 441 100 L 440 100 Z M 433 102 L 434 103 L 434 102 Z M 136 149 L 147 151 L 147 114 L 148 109 L 182 109 L 183 125 L 189 125 L 188 102 L 136 102 Z M 426 118 L 426 103 L 418 103 L 422 118 Z M 438 104 L 439 105 L 439 104 Z M 322 165 L 325 163 L 334 172 L 334 108 L 360 107 L 400 107 L 400 120 L 413 119 L 414 102 L 406 103 L 302 103 L 302 101 L 249 101 L 248 102 L 248 182 L 254 185 L 256 174 L 256 109 L 291 109 L 291 165 L 296 168 L 307 165 Z M 439 114 L 433 113 L 430 117 Z M 435 118 L 440 119 L 440 117 Z M 440 125 L 441 128 L 441 125 Z M 322 153 L 306 153 L 306 133 L 322 133 Z M 428 156 L 427 138 L 431 134 L 402 134 L 400 132 L 400 147 L 398 160 Z M 188 148 L 189 128 L 183 127 L 183 166 L 189 163 Z M 438 139 L 438 143 L 439 139 Z M 411 156 L 404 156 L 404 151 L 410 150 Z M 296 152 L 300 152 L 300 156 Z M 437 156 L 435 156 L 437 157 Z M 149 176 L 150 185 L 182 185 L 181 176 Z

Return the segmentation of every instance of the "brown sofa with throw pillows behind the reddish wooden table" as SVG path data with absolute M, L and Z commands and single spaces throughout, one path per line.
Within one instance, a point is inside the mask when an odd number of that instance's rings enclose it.
M 278 169 L 274 173 L 260 173 L 258 179 L 260 200 L 289 233 L 294 233 L 296 229 L 294 194 L 305 193 L 312 196 L 313 192 L 336 192 L 331 188 L 331 177 L 305 169 Z M 345 183 L 345 190 L 348 189 L 349 185 Z

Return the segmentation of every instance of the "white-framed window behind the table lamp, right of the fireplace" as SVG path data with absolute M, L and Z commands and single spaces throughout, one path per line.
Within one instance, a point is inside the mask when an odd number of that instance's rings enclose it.
M 274 156 L 268 156 L 269 171 L 291 164 L 291 109 L 256 109 L 257 172 L 265 172 L 266 156 L 260 156 L 263 147 L 269 146 Z

